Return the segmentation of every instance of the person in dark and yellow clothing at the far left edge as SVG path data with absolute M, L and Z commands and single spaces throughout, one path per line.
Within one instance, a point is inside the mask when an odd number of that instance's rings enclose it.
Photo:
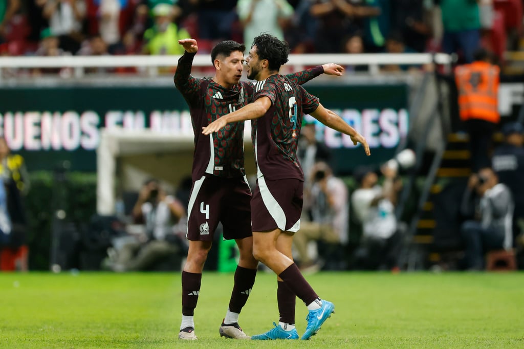
M 0 258 L 2 270 L 27 270 L 27 229 L 23 195 L 29 191 L 24 158 L 10 154 L 0 137 Z M 15 260 L 21 265 L 16 265 Z

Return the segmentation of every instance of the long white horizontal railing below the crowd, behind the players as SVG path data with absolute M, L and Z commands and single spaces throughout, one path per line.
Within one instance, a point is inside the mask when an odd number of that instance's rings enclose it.
M 84 68 L 100 67 L 136 67 L 146 68 L 151 75 L 158 74 L 159 67 L 176 67 L 180 56 L 60 56 L 60 57 L 0 57 L 0 77 L 4 68 L 64 68 L 74 69 L 75 77 L 84 75 Z M 452 57 L 444 53 L 377 53 L 377 54 L 290 54 L 288 66 L 294 70 L 304 66 L 315 66 L 334 62 L 342 66 L 364 65 L 369 67 L 372 75 L 379 73 L 384 64 L 452 63 Z M 193 60 L 194 67 L 210 67 L 209 54 L 197 54 Z

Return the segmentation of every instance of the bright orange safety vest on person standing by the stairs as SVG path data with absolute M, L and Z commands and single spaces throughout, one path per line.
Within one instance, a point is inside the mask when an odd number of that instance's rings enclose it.
M 455 80 L 459 90 L 459 110 L 462 121 L 481 119 L 494 124 L 498 113 L 499 68 L 488 62 L 476 61 L 457 67 Z

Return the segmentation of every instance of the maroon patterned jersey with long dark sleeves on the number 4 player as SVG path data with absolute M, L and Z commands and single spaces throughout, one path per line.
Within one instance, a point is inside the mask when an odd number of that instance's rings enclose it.
M 191 177 L 204 173 L 232 178 L 242 177 L 244 170 L 244 123 L 231 123 L 217 133 L 202 134 L 202 127 L 217 118 L 243 107 L 253 99 L 253 83 L 241 81 L 230 90 L 210 79 L 190 75 L 194 53 L 185 52 L 178 61 L 174 83 L 189 105 L 194 132 L 194 156 Z M 292 81 L 305 83 L 323 73 L 322 66 L 287 75 Z

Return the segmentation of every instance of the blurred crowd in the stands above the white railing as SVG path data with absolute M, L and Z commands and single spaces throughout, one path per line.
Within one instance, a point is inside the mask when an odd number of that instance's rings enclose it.
M 522 0 L 0 0 L 0 54 L 199 53 L 267 31 L 292 53 L 518 50 Z M 366 67 L 355 67 L 355 70 Z M 391 67 L 407 70 L 408 67 Z

